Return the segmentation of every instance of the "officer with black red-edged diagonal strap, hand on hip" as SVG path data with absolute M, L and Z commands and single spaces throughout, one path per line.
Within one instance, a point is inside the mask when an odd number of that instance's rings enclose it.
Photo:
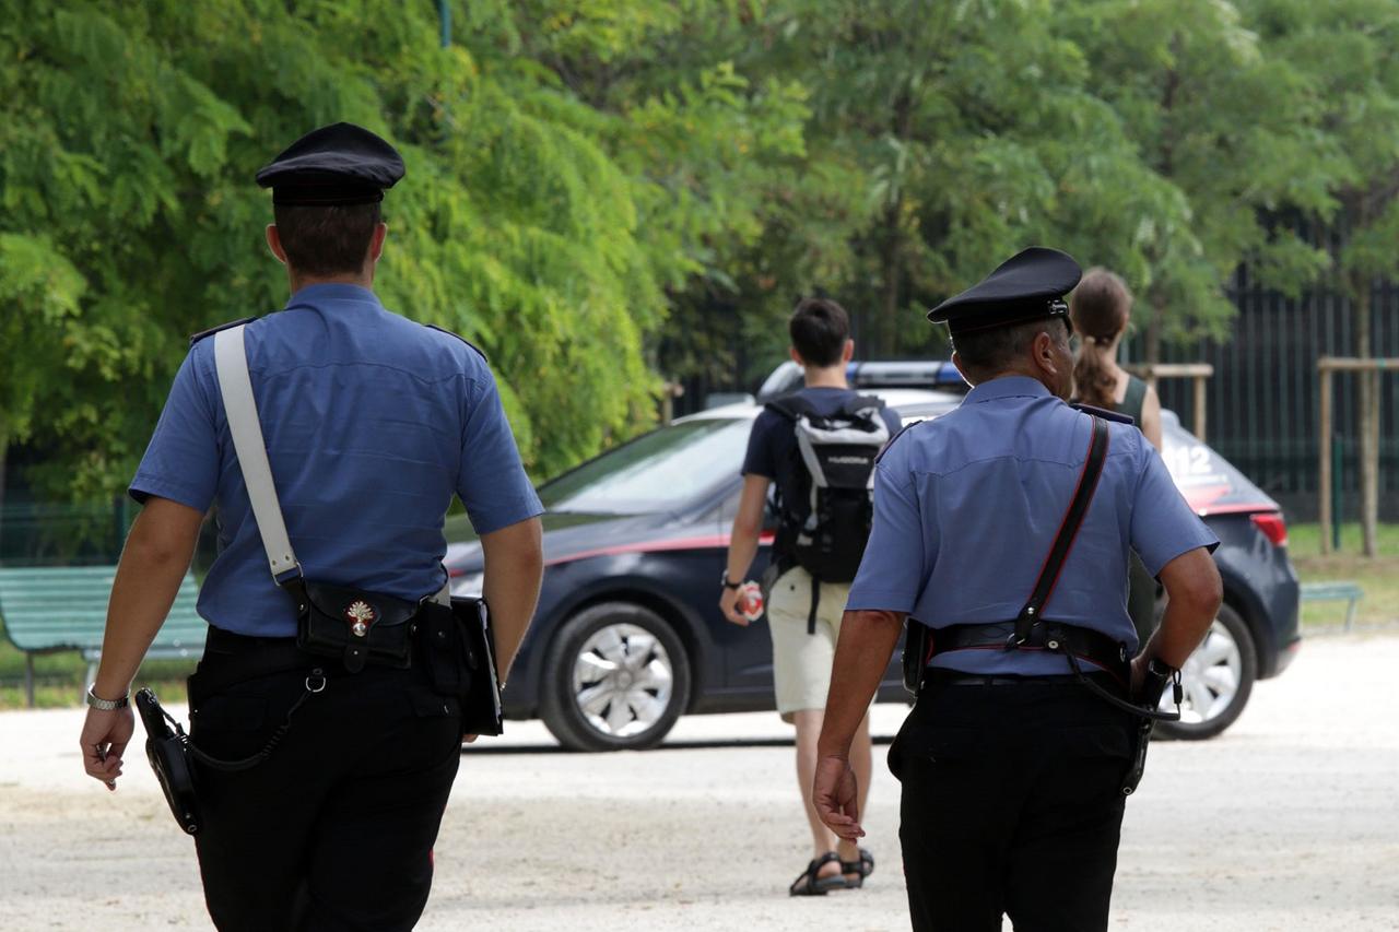
M 1123 705 L 1151 702 L 1142 683 L 1178 669 L 1220 605 L 1217 539 L 1142 434 L 1109 423 L 1058 585 L 1038 616 L 1024 613 L 1042 595 L 1097 427 L 1063 402 L 1073 354 L 1062 298 L 1077 281 L 1073 259 L 1032 248 L 939 305 L 929 316 L 949 323 L 972 389 L 893 441 L 876 472 L 814 795 L 837 834 L 863 834 L 851 735 L 905 619 L 911 641 L 929 628 L 921 694 L 890 749 L 915 929 L 989 932 L 1003 915 L 1017 932 L 1107 928 L 1142 735 Z M 1144 645 L 1126 607 L 1129 550 L 1170 598 Z

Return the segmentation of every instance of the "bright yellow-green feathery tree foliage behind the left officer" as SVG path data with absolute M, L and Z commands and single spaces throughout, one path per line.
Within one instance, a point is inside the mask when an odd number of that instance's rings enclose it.
M 603 111 L 539 59 L 606 62 L 677 28 L 670 4 L 456 6 L 448 49 L 431 3 L 0 6 L 4 355 L 27 357 L 3 424 L 50 453 L 45 487 L 119 488 L 185 334 L 284 302 L 252 175 L 337 119 L 409 165 L 381 295 L 487 350 L 537 473 L 653 417 L 666 295 L 719 273 L 709 241 L 757 235 L 736 192 L 800 150 L 800 102 L 718 63 Z

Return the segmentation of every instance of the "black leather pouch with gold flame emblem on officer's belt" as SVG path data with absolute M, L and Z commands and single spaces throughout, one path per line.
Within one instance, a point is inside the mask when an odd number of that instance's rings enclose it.
M 407 669 L 418 603 L 309 579 L 284 586 L 297 599 L 297 647 L 336 658 L 358 673 L 365 663 Z

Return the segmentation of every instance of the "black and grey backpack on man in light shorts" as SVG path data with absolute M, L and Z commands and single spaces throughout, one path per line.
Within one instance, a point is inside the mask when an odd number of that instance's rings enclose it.
M 779 493 L 779 571 L 802 567 L 811 575 L 811 614 L 823 582 L 851 582 L 860 568 L 874 515 L 874 458 L 888 442 L 877 397 L 852 396 L 837 411 L 820 414 L 800 395 L 774 399 L 768 410 L 792 423 L 796 434 L 796 488 Z

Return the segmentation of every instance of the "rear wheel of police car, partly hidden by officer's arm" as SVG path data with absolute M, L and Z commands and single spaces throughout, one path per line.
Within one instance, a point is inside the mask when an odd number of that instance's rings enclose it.
M 1221 605 L 1205 641 L 1181 668 L 1185 693 L 1181 721 L 1157 722 L 1157 735 L 1184 740 L 1214 737 L 1244 711 L 1256 679 L 1254 635 L 1234 609 Z M 1175 711 L 1170 689 L 1161 696 L 1161 711 Z

